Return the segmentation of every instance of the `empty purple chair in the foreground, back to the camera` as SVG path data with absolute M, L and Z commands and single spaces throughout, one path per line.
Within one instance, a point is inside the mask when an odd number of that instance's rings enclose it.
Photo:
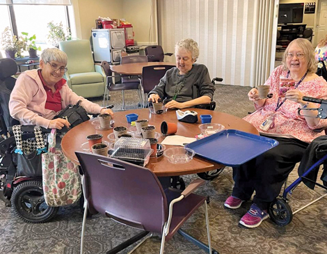
M 88 211 L 91 214 L 104 214 L 115 221 L 145 231 L 107 253 L 118 253 L 149 232 L 156 232 L 162 234 L 160 253 L 163 254 L 165 241 L 173 237 L 177 231 L 200 248 L 213 253 L 207 197 L 192 193 L 205 182 L 204 180 L 198 179 L 191 182 L 184 191 L 171 188 L 163 191 L 157 176 L 147 168 L 97 154 L 86 152 L 76 152 L 76 154 L 83 171 L 82 183 L 85 200 L 81 254 L 83 254 Z M 209 246 L 180 230 L 183 223 L 201 205 L 205 205 Z

